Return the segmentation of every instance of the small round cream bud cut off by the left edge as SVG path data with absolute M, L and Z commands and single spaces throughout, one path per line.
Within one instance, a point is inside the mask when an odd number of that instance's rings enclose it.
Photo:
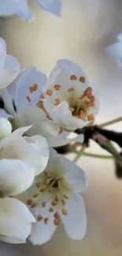
M 0 139 L 3 139 L 6 136 L 10 135 L 11 132 L 12 125 L 10 124 L 10 122 L 4 117 L 0 117 Z

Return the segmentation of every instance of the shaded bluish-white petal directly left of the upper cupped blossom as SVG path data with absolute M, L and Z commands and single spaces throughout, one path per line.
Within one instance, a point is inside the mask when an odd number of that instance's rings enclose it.
M 29 87 L 35 83 L 38 86 L 37 90 L 30 93 Z M 26 106 L 35 106 L 39 102 L 45 83 L 46 75 L 35 68 L 22 72 L 16 83 L 16 94 L 14 100 L 17 111 L 21 111 Z M 27 96 L 31 98 L 31 102 L 27 102 Z

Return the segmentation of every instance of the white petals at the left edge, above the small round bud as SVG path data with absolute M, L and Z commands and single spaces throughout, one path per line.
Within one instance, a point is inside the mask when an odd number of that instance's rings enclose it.
M 0 90 L 12 83 L 19 73 L 20 65 L 17 59 L 6 54 L 6 42 L 0 38 Z

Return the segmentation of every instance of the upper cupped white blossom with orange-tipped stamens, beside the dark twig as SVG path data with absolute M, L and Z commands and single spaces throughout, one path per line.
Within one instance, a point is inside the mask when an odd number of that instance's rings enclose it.
M 43 105 L 61 128 L 74 131 L 94 121 L 98 113 L 98 95 L 79 65 L 65 59 L 57 61 L 46 89 Z

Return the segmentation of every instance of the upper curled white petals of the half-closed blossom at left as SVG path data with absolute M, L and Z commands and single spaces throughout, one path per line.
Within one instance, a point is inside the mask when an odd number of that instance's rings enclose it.
M 28 179 L 24 180 L 25 186 L 28 187 L 34 176 L 43 172 L 49 159 L 48 144 L 43 136 L 22 137 L 29 128 L 18 128 L 0 141 L 0 158 L 18 159 L 30 167 Z

